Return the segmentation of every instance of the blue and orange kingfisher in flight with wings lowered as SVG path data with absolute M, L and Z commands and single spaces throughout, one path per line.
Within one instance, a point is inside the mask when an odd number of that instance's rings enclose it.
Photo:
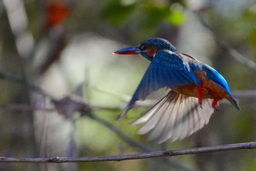
M 208 124 L 221 99 L 227 99 L 240 110 L 227 81 L 216 69 L 179 52 L 166 39 L 146 39 L 138 46 L 123 48 L 114 54 L 140 55 L 151 61 L 118 118 L 127 115 L 135 102 L 146 99 L 160 88 L 167 89 L 166 96 L 132 122 L 133 125 L 143 124 L 138 134 L 148 134 L 148 140 L 173 142 L 197 132 Z

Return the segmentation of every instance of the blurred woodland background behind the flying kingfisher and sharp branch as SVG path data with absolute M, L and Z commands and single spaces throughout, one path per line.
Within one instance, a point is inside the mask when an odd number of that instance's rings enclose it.
M 230 84 L 241 111 L 222 102 L 202 130 L 162 145 L 129 125 L 151 101 L 116 121 L 148 61 L 112 53 L 149 37 L 168 39 L 181 52 L 214 66 Z M 256 1 L 2 0 L 0 78 L 1 156 L 108 156 L 253 142 Z M 255 153 L 2 163 L 0 170 L 256 170 Z

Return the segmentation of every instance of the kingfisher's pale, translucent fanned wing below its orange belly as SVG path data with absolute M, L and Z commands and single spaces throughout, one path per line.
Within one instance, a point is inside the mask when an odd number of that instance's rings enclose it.
M 212 99 L 203 99 L 202 109 L 197 98 L 170 91 L 132 124 L 144 123 L 138 134 L 148 133 L 149 140 L 157 140 L 159 143 L 181 140 L 208 123 L 214 113 L 211 102 Z

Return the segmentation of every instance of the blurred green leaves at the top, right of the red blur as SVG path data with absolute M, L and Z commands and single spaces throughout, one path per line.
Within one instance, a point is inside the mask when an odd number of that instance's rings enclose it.
M 184 21 L 184 12 L 181 4 L 170 6 L 167 1 L 157 3 L 156 1 L 108 1 L 101 9 L 101 17 L 110 20 L 114 25 L 124 23 L 132 12 L 140 12 L 140 24 L 143 29 L 156 28 L 164 20 L 175 26 L 181 25 Z M 138 15 L 132 15 L 138 18 Z M 136 18 L 132 18 L 136 20 Z M 136 21 L 135 21 L 136 23 Z

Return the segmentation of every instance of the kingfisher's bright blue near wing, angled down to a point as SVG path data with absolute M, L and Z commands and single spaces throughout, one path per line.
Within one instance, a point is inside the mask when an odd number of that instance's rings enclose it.
M 129 104 L 118 118 L 126 115 L 136 101 L 146 99 L 146 96 L 153 91 L 165 87 L 176 88 L 188 83 L 200 85 L 200 80 L 190 69 L 189 61 L 170 50 L 159 50 L 148 66 Z

